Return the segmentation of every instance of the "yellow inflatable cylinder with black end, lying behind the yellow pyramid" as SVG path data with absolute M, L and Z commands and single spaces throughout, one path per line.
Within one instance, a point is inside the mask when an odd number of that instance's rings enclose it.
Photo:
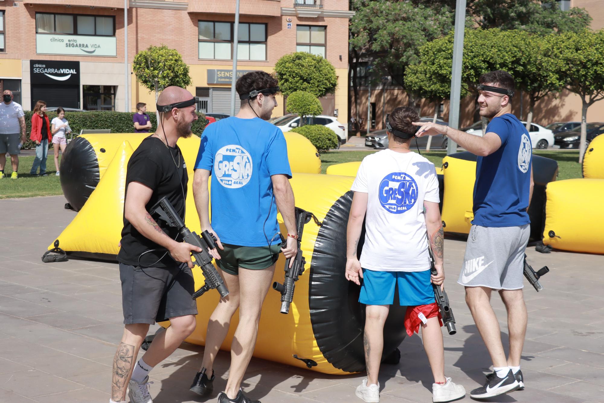
M 103 177 L 109 163 L 124 140 L 130 143 L 132 149 L 149 133 L 111 133 L 83 134 L 71 140 L 61 158 L 60 182 L 63 194 L 69 205 L 80 211 L 98 181 Z M 292 172 L 318 174 L 321 172 L 321 159 L 315 146 L 310 140 L 298 133 L 284 133 L 288 143 L 288 159 Z M 193 168 L 199 151 L 201 140 L 198 136 L 179 139 L 183 157 Z

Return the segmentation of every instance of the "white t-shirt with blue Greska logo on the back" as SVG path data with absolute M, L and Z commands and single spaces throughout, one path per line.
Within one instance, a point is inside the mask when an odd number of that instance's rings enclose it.
M 416 152 L 385 149 L 363 159 L 352 190 L 367 193 L 361 266 L 378 271 L 428 270 L 423 201 L 440 201 L 434 164 Z

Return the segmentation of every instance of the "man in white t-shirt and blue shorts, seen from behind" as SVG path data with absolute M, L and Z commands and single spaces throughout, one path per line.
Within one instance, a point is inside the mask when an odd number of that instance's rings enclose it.
M 439 182 L 434 164 L 409 148 L 419 116 L 412 108 L 396 108 L 386 121 L 388 149 L 363 159 L 352 185 L 355 192 L 347 228 L 346 278 L 361 285 L 365 309 L 367 379 L 356 388 L 365 402 L 379 402 L 377 375 L 384 345 L 384 323 L 394 292 L 407 306 L 409 336 L 422 327 L 422 341 L 434 375 L 432 401 L 448 402 L 466 394 L 445 376 L 442 321 L 432 284 L 443 284 L 443 228 Z M 365 219 L 365 243 L 357 246 Z M 430 273 L 428 247 L 437 275 Z M 361 284 L 362 279 L 362 284 Z M 442 286 L 442 285 L 441 285 Z

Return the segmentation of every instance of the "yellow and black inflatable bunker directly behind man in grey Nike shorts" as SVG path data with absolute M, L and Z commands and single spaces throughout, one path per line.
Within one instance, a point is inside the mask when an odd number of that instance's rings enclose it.
M 469 234 L 474 219 L 472 197 L 476 180 L 477 157 L 468 151 L 456 152 L 443 158 L 445 174 L 445 195 L 442 208 L 443 228 L 445 232 Z M 555 160 L 533 154 L 533 198 L 528 206 L 531 229 L 530 238 L 540 240 L 543 229 L 543 205 L 545 186 L 558 174 Z

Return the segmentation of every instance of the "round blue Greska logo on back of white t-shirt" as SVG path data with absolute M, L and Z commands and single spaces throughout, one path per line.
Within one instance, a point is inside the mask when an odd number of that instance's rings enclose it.
M 401 214 L 417 201 L 417 182 L 405 172 L 392 172 L 379 184 L 379 203 L 393 214 Z

